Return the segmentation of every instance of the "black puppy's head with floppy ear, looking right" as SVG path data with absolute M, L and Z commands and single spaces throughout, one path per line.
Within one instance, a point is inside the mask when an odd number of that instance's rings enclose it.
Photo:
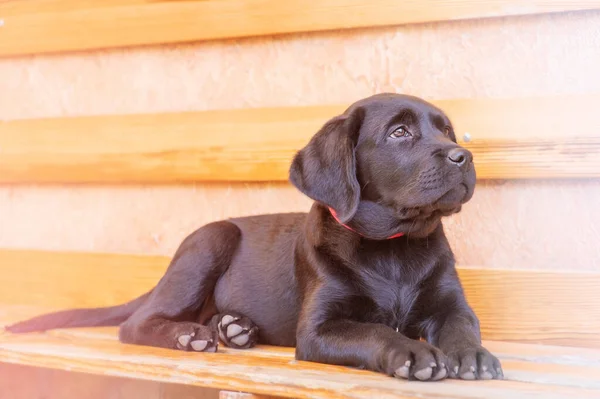
M 296 154 L 290 181 L 368 237 L 426 236 L 472 197 L 475 168 L 444 112 L 379 94 L 328 121 Z

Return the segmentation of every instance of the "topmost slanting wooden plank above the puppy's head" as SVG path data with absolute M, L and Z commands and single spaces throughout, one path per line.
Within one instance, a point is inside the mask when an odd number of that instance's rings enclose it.
M 595 9 L 598 0 L 0 2 L 0 56 Z

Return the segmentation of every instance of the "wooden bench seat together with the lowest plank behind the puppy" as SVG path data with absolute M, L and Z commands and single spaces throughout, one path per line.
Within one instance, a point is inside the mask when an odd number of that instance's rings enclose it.
M 0 321 L 124 302 L 152 287 L 167 264 L 165 257 L 0 251 Z M 293 348 L 221 347 L 203 354 L 131 346 L 118 342 L 116 328 L 2 333 L 0 360 L 293 398 L 600 396 L 600 274 L 461 268 L 460 276 L 486 345 L 503 362 L 505 381 L 405 382 L 298 362 Z

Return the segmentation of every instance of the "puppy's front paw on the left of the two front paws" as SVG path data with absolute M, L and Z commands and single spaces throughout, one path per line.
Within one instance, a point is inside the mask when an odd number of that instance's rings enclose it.
M 448 375 L 446 356 L 441 350 L 422 341 L 389 352 L 388 372 L 408 380 L 439 381 Z

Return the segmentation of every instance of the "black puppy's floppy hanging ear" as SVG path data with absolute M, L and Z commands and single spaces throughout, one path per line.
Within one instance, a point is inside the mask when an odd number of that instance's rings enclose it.
M 331 207 L 342 223 L 356 213 L 360 186 L 354 150 L 364 111 L 356 108 L 327 122 L 300 150 L 290 181 L 309 198 Z

